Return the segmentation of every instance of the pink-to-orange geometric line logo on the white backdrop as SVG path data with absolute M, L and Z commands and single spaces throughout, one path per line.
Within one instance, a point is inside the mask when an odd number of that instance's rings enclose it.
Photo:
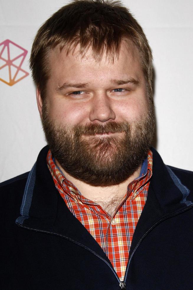
M 29 75 L 21 68 L 27 55 L 27 50 L 6 39 L 0 43 L 0 80 L 13 86 Z

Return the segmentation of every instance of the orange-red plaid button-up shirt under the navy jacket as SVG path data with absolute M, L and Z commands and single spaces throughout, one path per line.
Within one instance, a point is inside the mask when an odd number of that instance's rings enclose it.
M 55 186 L 68 209 L 101 246 L 120 280 L 123 280 L 133 233 L 147 198 L 152 175 L 152 152 L 149 150 L 148 157 L 143 162 L 140 176 L 128 185 L 127 193 L 113 217 L 109 216 L 99 204 L 86 199 L 65 178 L 55 165 L 50 150 L 47 155 L 47 164 Z

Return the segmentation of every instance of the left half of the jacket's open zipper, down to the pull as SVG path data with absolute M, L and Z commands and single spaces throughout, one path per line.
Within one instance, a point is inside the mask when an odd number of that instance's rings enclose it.
M 101 259 L 103 262 L 105 262 L 105 263 L 109 266 L 109 268 L 110 268 L 110 269 L 112 270 L 112 272 L 114 273 L 114 275 L 115 275 L 117 281 L 119 282 L 119 286 L 121 287 L 121 289 L 125 289 L 125 290 L 126 290 L 126 288 L 122 288 L 123 285 L 126 286 L 125 282 L 120 281 L 119 277 L 117 276 L 117 273 L 115 272 L 115 269 L 114 269 L 114 268 L 113 268 L 113 267 L 112 267 L 112 266 L 111 266 L 111 265 L 110 265 L 106 260 L 104 260 L 101 256 L 99 256 L 98 254 L 96 254 L 96 253 L 95 253 L 94 251 L 92 251 L 91 249 L 85 247 L 84 245 L 82 245 L 82 244 L 80 244 L 80 243 L 78 243 L 78 242 L 76 242 L 76 241 L 74 241 L 74 240 L 72 240 L 72 239 L 70 239 L 70 238 L 68 238 L 68 237 L 66 237 L 66 236 L 60 235 L 60 234 L 58 234 L 58 233 L 52 233 L 52 232 L 49 232 L 49 231 L 37 230 L 37 229 L 35 229 L 35 228 L 29 228 L 29 227 L 26 227 L 26 226 L 24 226 L 24 225 L 22 225 L 22 224 L 20 224 L 20 223 L 17 223 L 17 222 L 16 222 L 16 224 L 17 224 L 20 228 L 26 228 L 27 230 L 30 230 L 30 231 L 35 231 L 35 232 L 40 232 L 40 233 L 48 233 L 48 234 L 50 234 L 50 235 L 59 236 L 59 237 L 61 237 L 61 238 L 63 238 L 63 239 L 66 239 L 66 240 L 68 240 L 68 241 L 71 241 L 71 242 L 73 242 L 74 244 L 77 244 L 78 246 L 80 246 L 80 247 L 86 249 L 87 251 L 89 251 L 89 252 L 91 252 L 92 254 L 94 254 L 96 257 L 98 257 L 99 259 Z

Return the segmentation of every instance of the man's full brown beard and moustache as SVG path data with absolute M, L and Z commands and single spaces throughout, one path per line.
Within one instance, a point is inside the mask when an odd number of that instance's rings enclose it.
M 149 107 L 146 115 L 131 124 L 113 121 L 69 128 L 57 125 L 43 104 L 45 138 L 53 157 L 69 175 L 92 186 L 117 185 L 147 157 L 155 127 L 153 104 Z

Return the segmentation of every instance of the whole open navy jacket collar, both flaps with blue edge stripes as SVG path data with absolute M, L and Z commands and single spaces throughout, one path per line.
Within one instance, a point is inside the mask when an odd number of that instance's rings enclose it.
M 153 175 L 148 190 L 147 201 L 132 241 L 132 248 L 153 224 L 167 215 L 185 209 L 189 189 L 164 165 L 155 149 L 153 152 Z M 104 252 L 84 226 L 68 210 L 61 198 L 48 170 L 46 156 L 48 146 L 38 155 L 37 162 L 30 171 L 21 205 L 21 216 L 16 223 L 27 228 L 57 233 L 89 247 L 107 260 Z

